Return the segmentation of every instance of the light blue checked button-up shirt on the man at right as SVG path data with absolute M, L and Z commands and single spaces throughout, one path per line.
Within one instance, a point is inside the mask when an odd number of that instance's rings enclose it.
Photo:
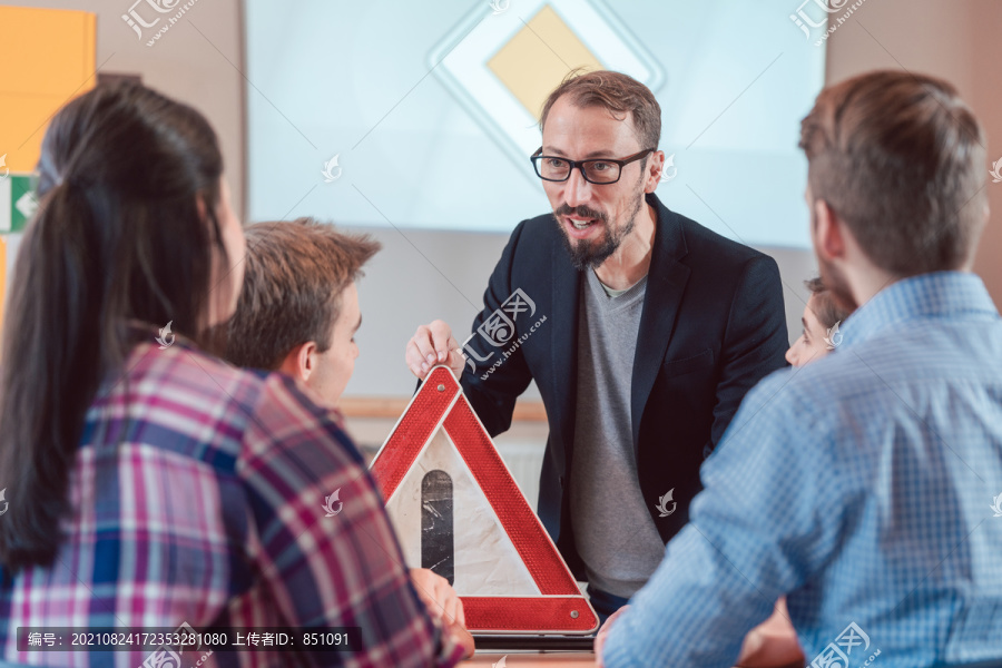
M 730 666 L 783 595 L 818 668 L 1002 664 L 1002 318 L 944 272 L 839 330 L 745 397 L 607 666 Z

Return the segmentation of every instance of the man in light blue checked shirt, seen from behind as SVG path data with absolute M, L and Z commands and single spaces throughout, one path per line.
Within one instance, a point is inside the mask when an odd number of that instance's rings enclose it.
M 812 239 L 858 308 L 831 355 L 745 397 L 689 524 L 599 635 L 606 666 L 730 666 L 783 595 L 813 666 L 1002 665 L 1002 318 L 971 273 L 984 145 L 939 79 L 818 96 Z

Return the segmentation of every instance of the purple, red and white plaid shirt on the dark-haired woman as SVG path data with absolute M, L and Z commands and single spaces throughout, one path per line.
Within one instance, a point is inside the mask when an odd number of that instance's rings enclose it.
M 149 651 L 19 654 L 17 628 L 187 622 L 199 631 L 361 627 L 364 650 L 338 654 L 334 665 L 459 661 L 462 649 L 410 582 L 336 414 L 291 379 L 234 369 L 180 337 L 166 350 L 139 344 L 126 369 L 87 414 L 55 566 L 14 577 L 0 568 L 0 657 L 136 668 Z M 338 490 L 343 505 L 325 517 L 325 498 Z M 215 652 L 199 666 L 307 656 Z

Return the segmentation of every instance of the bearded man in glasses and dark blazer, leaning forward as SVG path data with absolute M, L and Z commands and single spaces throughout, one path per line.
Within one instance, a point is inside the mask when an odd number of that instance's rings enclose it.
M 550 426 L 538 512 L 605 618 L 686 524 L 745 393 L 785 366 L 783 289 L 773 258 L 655 196 L 661 111 L 646 86 L 570 78 L 540 126 L 530 159 L 552 213 L 515 227 L 471 338 L 422 325 L 406 362 L 422 380 L 452 367 L 492 435 L 536 381 Z

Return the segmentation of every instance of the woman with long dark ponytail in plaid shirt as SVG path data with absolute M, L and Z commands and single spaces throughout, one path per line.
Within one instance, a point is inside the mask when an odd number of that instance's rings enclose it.
M 0 371 L 2 659 L 80 661 L 19 652 L 18 627 L 185 622 L 360 627 L 362 647 L 333 660 L 344 666 L 471 654 L 459 623 L 425 613 L 330 412 L 292 379 L 203 351 L 236 306 L 245 248 L 202 115 L 138 85 L 98 87 L 52 119 L 39 170 Z M 114 662 L 161 665 L 149 655 Z

